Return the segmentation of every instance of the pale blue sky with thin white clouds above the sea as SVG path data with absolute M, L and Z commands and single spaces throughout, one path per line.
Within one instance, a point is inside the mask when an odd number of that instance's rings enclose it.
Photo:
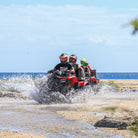
M 132 0 L 0 1 L 0 72 L 46 72 L 63 52 L 98 72 L 138 72 Z

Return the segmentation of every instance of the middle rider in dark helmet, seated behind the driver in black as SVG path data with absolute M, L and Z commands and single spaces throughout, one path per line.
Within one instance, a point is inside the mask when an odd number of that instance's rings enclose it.
M 78 80 L 84 80 L 85 79 L 84 70 L 76 62 L 77 62 L 77 56 L 72 54 L 69 58 L 69 63 L 74 67 L 76 77 L 78 78 Z

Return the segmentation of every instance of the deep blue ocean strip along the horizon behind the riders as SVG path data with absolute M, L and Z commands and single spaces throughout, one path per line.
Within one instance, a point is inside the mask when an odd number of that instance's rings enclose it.
M 0 79 L 9 79 L 13 77 L 30 76 L 36 77 L 47 75 L 44 72 L 0 72 Z M 98 79 L 138 79 L 138 72 L 115 73 L 115 72 L 98 72 Z

